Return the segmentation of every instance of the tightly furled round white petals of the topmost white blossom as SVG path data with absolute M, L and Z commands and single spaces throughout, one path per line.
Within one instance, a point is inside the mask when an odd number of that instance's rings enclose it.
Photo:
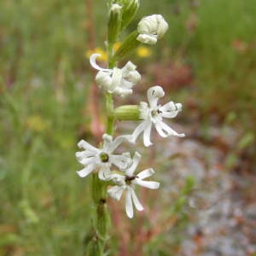
M 144 17 L 137 26 L 137 40 L 143 44 L 156 44 L 157 39 L 162 38 L 167 29 L 168 23 L 162 15 Z

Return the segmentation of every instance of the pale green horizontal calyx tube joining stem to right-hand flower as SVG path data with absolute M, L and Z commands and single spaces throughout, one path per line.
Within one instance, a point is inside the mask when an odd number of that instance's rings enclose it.
M 113 116 L 119 120 L 138 120 L 140 110 L 137 105 L 124 105 L 113 110 Z

